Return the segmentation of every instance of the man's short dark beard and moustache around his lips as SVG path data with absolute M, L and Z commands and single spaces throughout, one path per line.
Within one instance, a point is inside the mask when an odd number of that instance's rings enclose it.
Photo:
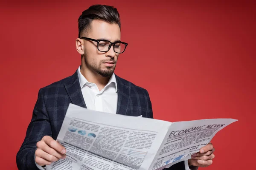
M 113 67 L 106 67 L 105 69 L 101 69 L 101 65 L 104 62 L 108 62 L 108 61 L 115 62 L 114 59 L 111 59 L 111 58 L 110 59 L 101 60 L 99 66 L 97 66 L 96 59 L 90 59 L 90 62 L 89 62 L 88 61 L 88 57 L 87 57 L 86 54 L 84 55 L 84 59 L 85 59 L 85 62 L 87 64 L 87 66 L 90 67 L 93 71 L 95 71 L 99 75 L 101 75 L 102 77 L 111 77 L 112 74 L 114 73 L 115 68 L 116 68 L 116 65 L 113 65 Z

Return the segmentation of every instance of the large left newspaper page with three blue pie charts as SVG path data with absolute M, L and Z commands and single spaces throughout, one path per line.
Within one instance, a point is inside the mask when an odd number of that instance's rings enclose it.
M 47 170 L 148 170 L 169 126 L 167 121 L 70 104 L 57 138 L 67 150 L 66 159 Z

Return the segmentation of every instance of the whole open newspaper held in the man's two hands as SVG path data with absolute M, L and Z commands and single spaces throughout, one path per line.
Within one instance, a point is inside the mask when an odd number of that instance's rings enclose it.
M 66 159 L 47 170 L 162 170 L 191 158 L 235 119 L 167 122 L 70 104 L 57 141 Z

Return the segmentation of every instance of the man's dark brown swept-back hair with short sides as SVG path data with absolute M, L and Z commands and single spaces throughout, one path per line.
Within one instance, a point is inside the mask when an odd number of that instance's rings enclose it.
M 116 23 L 121 29 L 120 15 L 113 6 L 93 5 L 84 10 L 78 19 L 78 37 L 83 31 L 90 29 L 90 23 L 93 20 L 103 20 L 108 23 Z

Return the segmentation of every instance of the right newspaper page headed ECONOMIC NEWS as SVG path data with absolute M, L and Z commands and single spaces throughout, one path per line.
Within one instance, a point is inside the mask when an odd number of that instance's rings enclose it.
M 162 170 L 180 161 L 188 160 L 207 145 L 215 134 L 237 120 L 203 119 L 173 122 L 149 168 Z

